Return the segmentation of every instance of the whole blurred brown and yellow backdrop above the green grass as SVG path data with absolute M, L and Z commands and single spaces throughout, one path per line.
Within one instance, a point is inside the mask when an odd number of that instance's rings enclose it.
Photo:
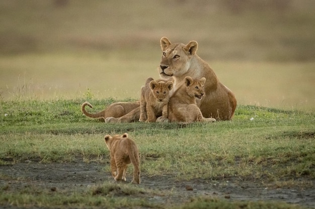
M 198 42 L 239 104 L 315 110 L 315 1 L 0 0 L 0 99 L 139 98 L 160 39 Z

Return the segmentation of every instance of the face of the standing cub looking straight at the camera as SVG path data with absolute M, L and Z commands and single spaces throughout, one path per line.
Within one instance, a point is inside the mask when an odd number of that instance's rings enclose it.
M 173 82 L 168 81 L 151 81 L 150 89 L 152 91 L 153 96 L 156 98 L 158 102 L 162 102 L 169 99 L 170 91 L 173 88 Z

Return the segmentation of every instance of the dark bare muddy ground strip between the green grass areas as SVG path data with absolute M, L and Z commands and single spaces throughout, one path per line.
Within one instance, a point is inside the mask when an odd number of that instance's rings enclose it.
M 0 166 L 0 187 L 21 189 L 36 185 L 40 189 L 58 189 L 64 191 L 80 191 L 88 186 L 102 184 L 104 181 L 114 182 L 110 173 L 105 172 L 106 164 L 101 163 L 17 163 Z M 127 173 L 127 181 L 131 181 Z M 300 179 L 304 181 L 305 179 Z M 307 180 L 309 182 L 309 180 Z M 227 200 L 276 200 L 303 206 L 315 207 L 314 180 L 305 187 L 285 186 L 277 188 L 274 184 L 263 184 L 253 180 L 238 178 L 211 180 L 194 179 L 177 181 L 172 176 L 148 177 L 141 175 L 140 187 L 159 190 L 168 195 L 144 197 L 148 201 L 161 203 L 184 203 L 190 197 L 208 195 Z M 169 192 L 172 191 L 172 192 Z M 4 191 L 0 191 L 4 192 Z M 8 208 L 8 207 L 7 207 Z M 15 207 L 16 208 L 16 207 Z

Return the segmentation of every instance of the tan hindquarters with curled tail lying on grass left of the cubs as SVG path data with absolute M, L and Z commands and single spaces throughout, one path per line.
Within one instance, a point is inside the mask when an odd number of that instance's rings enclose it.
M 135 108 L 140 106 L 139 102 L 116 102 L 111 104 L 108 108 L 105 110 L 92 114 L 86 111 L 85 107 L 89 106 L 93 108 L 93 106 L 89 102 L 84 102 L 81 106 L 81 111 L 83 114 L 90 118 L 98 118 L 100 120 L 105 120 L 105 118 L 108 117 L 115 117 L 119 118 L 123 115 L 126 115 L 130 111 L 134 110 Z

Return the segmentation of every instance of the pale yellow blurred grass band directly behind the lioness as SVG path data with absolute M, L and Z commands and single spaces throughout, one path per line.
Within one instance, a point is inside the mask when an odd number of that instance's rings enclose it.
M 159 62 L 159 58 L 140 64 L 138 60 L 106 61 L 91 55 L 0 57 L 0 66 L 4 66 L 4 71 L 0 71 L 0 80 L 3 80 L 0 97 L 5 101 L 139 98 L 146 78 L 158 78 Z M 209 64 L 220 81 L 234 92 L 239 104 L 299 110 L 315 108 L 313 62 L 215 61 Z

